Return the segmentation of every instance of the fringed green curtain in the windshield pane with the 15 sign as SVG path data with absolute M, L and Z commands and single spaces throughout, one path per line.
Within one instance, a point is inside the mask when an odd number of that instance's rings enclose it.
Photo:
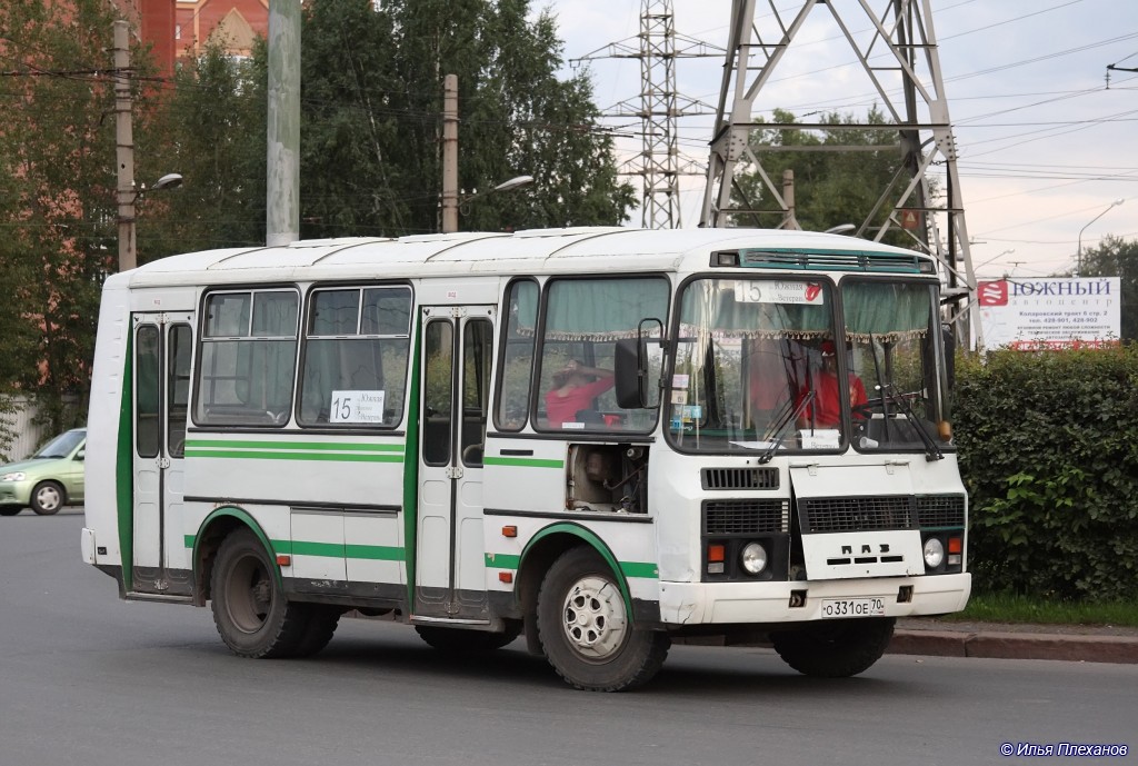
M 716 338 L 832 338 L 830 288 L 818 287 L 823 290 L 820 303 L 759 303 L 737 300 L 733 280 L 695 282 L 684 293 L 682 333 L 703 330 Z

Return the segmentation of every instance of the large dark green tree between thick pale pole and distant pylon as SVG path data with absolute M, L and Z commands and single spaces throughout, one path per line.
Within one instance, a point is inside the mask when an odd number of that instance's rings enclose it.
M 559 82 L 561 43 L 528 0 L 325 0 L 304 15 L 300 192 L 305 236 L 438 230 L 443 77 L 459 77 L 459 176 L 480 196 L 465 229 L 617 224 L 617 178 L 588 80 Z

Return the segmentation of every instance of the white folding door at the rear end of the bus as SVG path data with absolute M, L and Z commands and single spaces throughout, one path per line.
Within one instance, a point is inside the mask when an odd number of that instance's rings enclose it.
M 133 315 L 133 587 L 189 595 L 182 530 L 183 455 L 190 393 L 192 315 Z

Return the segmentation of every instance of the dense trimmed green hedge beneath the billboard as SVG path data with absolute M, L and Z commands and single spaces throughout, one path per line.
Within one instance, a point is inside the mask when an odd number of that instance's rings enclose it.
M 974 588 L 1138 593 L 1138 344 L 997 351 L 956 365 Z

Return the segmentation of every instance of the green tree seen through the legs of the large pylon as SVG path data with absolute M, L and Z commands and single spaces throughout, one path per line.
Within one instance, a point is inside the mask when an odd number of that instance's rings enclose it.
M 776 109 L 775 122 L 793 123 L 795 118 L 789 112 Z M 852 114 L 838 113 L 823 115 L 819 122 L 835 126 L 857 124 Z M 865 123 L 888 124 L 876 107 L 869 109 Z M 808 231 L 825 231 L 841 223 L 860 224 L 869 216 L 881 191 L 889 187 L 901 164 L 897 133 L 880 129 L 799 131 L 772 127 L 753 131 L 750 143 L 775 186 L 781 188 L 784 170 L 794 172 L 795 217 L 799 225 Z M 838 147 L 849 146 L 880 148 L 872 151 L 838 150 Z M 794 147 L 803 149 L 794 150 Z M 733 192 L 735 204 L 766 211 L 778 209 L 757 168 L 737 174 L 736 183 L 739 189 Z M 898 190 L 894 189 L 893 197 L 871 219 L 872 226 L 885 222 L 897 193 Z M 782 217 L 781 212 L 733 216 L 736 225 L 765 228 L 778 226 Z M 904 234 L 893 232 L 887 234 L 887 241 L 910 244 Z

